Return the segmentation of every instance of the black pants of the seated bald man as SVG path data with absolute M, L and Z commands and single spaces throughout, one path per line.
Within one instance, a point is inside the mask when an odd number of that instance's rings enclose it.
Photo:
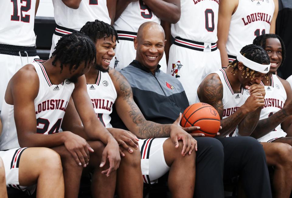
M 240 176 L 246 196 L 272 198 L 266 155 L 252 137 L 195 138 L 196 198 L 223 198 L 223 181 Z

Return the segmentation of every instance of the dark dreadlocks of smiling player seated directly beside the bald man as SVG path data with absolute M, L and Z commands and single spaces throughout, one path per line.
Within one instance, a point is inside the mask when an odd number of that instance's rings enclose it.
M 105 37 L 112 37 L 116 36 L 116 40 L 119 43 L 118 33 L 116 32 L 115 28 L 108 23 L 103 21 L 95 20 L 95 21 L 88 21 L 85 25 L 81 28 L 80 32 L 86 34 L 89 38 L 91 38 L 94 43 L 98 39 L 105 38 Z M 113 41 L 114 42 L 114 41 Z

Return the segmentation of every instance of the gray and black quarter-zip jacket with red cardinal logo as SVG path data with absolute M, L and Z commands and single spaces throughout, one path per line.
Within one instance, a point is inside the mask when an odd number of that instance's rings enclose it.
M 146 120 L 170 124 L 178 118 L 179 112 L 189 106 L 189 102 L 179 80 L 159 68 L 160 65 L 153 75 L 148 68 L 134 60 L 120 72 L 129 81 L 134 101 Z M 113 127 L 124 128 L 115 124 L 116 116 L 113 113 L 111 115 Z

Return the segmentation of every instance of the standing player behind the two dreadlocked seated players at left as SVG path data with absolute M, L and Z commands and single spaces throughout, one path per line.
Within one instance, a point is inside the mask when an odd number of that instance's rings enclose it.
M 87 21 L 99 19 L 112 24 L 116 12 L 116 0 L 52 0 L 57 27 L 52 38 L 52 55 L 59 39 L 79 31 Z M 112 22 L 112 23 L 111 23 Z

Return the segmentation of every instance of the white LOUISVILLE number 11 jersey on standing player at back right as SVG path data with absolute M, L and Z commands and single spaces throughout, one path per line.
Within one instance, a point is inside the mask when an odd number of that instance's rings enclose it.
M 238 0 L 238 7 L 231 16 L 226 50 L 236 56 L 255 37 L 269 34 L 275 5 L 273 0 Z

